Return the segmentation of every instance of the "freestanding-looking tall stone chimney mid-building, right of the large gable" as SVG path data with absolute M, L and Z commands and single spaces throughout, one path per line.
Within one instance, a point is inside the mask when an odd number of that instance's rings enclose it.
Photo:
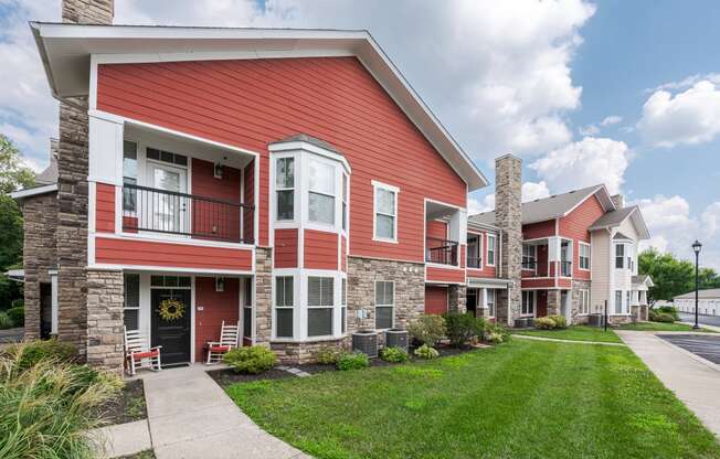
M 512 325 L 520 313 L 520 265 L 522 261 L 522 161 L 513 154 L 495 160 L 495 224 L 501 231 L 500 273 L 510 281 L 500 290 L 497 320 Z

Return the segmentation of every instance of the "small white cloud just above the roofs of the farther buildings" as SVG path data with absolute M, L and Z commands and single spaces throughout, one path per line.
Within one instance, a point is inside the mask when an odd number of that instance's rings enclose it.
M 625 142 L 585 137 L 530 163 L 548 186 L 558 192 L 604 183 L 620 192 L 629 159 Z

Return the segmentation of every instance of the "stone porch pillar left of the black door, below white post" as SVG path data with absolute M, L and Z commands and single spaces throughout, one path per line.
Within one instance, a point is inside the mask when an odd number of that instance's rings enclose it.
M 87 364 L 123 374 L 121 270 L 87 270 Z

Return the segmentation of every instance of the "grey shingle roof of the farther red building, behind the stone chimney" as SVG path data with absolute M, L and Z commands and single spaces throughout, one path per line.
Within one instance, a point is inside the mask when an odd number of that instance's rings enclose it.
M 593 185 L 522 203 L 522 224 L 527 225 L 565 216 L 593 194 L 599 194 L 605 210 L 615 210 L 605 186 Z M 475 214 L 468 220 L 472 223 L 494 225 L 495 211 Z

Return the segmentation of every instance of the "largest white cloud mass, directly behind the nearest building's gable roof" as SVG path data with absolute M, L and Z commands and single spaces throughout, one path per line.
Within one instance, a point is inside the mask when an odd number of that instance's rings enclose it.
M 49 7 L 50 4 L 50 7 Z M 0 121 L 46 138 L 56 128 L 29 19 L 59 20 L 60 0 L 0 0 Z M 564 115 L 582 88 L 570 64 L 595 7 L 583 0 L 123 0 L 116 23 L 368 29 L 475 158 L 537 154 L 569 142 Z M 12 107 L 12 108 L 11 108 Z M 7 115 L 9 110 L 13 116 Z M 46 157 L 44 145 L 23 148 Z

